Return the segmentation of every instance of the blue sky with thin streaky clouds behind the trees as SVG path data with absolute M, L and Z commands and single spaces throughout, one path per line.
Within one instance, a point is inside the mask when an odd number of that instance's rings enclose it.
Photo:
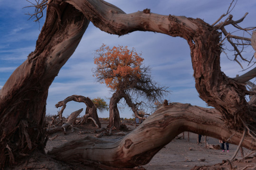
M 171 14 L 201 18 L 210 25 L 227 12 L 231 2 L 231 0 L 106 1 L 121 8 L 125 13 L 150 8 L 152 13 L 161 15 Z M 36 41 L 45 17 L 41 18 L 39 24 L 33 22 L 33 20 L 28 20 L 29 16 L 25 13 L 33 13 L 34 8 L 23 7 L 29 5 L 26 0 L 0 0 L 0 88 L 3 87 L 12 72 L 26 60 L 28 54 L 35 50 Z M 243 0 L 238 0 L 231 14 L 234 20 L 238 20 L 248 12 L 249 14 L 240 26 L 256 26 L 255 9 L 255 0 L 246 0 L 246 3 Z M 46 12 L 44 15 L 46 15 Z M 231 27 L 227 27 L 227 29 L 233 32 Z M 242 33 L 235 34 L 242 35 Z M 248 35 L 247 37 L 250 38 Z M 99 49 L 103 43 L 110 47 L 127 45 L 129 49 L 135 48 L 138 53 L 142 53 L 145 66 L 152 68 L 153 80 L 162 86 L 169 87 L 168 90 L 171 93 L 166 96 L 169 102 L 190 103 L 207 107 L 207 104 L 199 98 L 195 89 L 190 49 L 184 39 L 139 31 L 123 36 L 111 35 L 102 32 L 90 23 L 76 51 L 61 68 L 58 76 L 49 87 L 46 110 L 48 115 L 56 115 L 59 109 L 55 108 L 55 104 L 73 94 L 83 95 L 91 99 L 101 97 L 107 103 L 109 102 L 113 92 L 104 84 L 97 83 L 91 71 L 92 68 L 95 68 L 93 61 L 95 50 Z M 244 57 L 247 59 L 251 58 L 255 52 L 250 47 L 246 51 Z M 228 58 L 234 57 L 232 51 L 226 52 Z M 227 76 L 235 77 L 237 74 L 246 73 L 236 62 L 228 58 L 224 53 L 221 54 L 221 70 Z M 243 66 L 247 68 L 247 63 L 243 63 Z M 132 110 L 129 110 L 122 103 L 118 106 L 120 107 L 121 118 L 133 117 Z M 83 116 L 85 107 L 84 103 L 68 102 L 63 115 L 67 116 L 73 111 L 84 108 L 84 111 L 80 114 L 80 116 Z M 98 116 L 107 118 L 109 113 L 98 111 Z

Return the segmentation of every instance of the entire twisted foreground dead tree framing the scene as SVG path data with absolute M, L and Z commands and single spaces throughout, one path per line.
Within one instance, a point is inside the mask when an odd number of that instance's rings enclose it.
M 108 166 L 134 167 L 150 161 L 182 131 L 224 141 L 232 137 L 230 143 L 239 144 L 245 128 L 241 146 L 256 149 L 256 135 L 251 130 L 256 127 L 256 103 L 246 101 L 245 95 L 254 93 L 247 91 L 244 85 L 256 76 L 256 68 L 237 78 L 229 78 L 219 65 L 222 50 L 219 30 L 226 34 L 225 26 L 237 26 L 244 17 L 237 21 L 228 17 L 222 23 L 209 25 L 199 18 L 163 16 L 150 10 L 126 14 L 103 0 L 49 0 L 43 4 L 47 5 L 47 16 L 36 49 L 0 90 L 0 169 L 17 164 L 28 155 L 44 153 L 48 88 L 76 50 L 90 21 L 110 34 L 152 31 L 187 40 L 199 96 L 216 110 L 173 103 L 157 110 L 142 126 L 115 143 L 87 138 L 67 144 L 70 145 L 68 148 L 54 149 L 49 154 L 63 161 L 78 159 Z M 232 34 L 225 37 L 234 39 Z M 250 38 L 244 39 L 250 41 Z M 191 109 L 189 114 L 186 114 L 187 109 Z M 158 133 L 154 133 L 156 128 Z M 77 148 L 78 145 L 85 149 Z M 77 158 L 79 153 L 83 156 Z M 66 160 L 67 157 L 70 159 Z

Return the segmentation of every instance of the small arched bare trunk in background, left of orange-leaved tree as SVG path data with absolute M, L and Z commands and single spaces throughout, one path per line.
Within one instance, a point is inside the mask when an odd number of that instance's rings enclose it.
M 93 119 L 95 119 L 95 121 L 97 122 L 98 126 L 101 128 L 101 123 L 97 114 L 97 109 L 94 105 L 94 103 L 91 101 L 91 99 L 89 97 L 85 97 L 85 96 L 81 96 L 81 95 L 72 95 L 72 96 L 68 96 L 66 97 L 66 99 L 64 99 L 63 101 L 58 102 L 55 107 L 61 107 L 60 112 L 58 113 L 60 115 L 60 117 L 62 117 L 62 113 L 64 111 L 64 109 L 66 108 L 66 103 L 70 102 L 70 101 L 75 101 L 75 102 L 83 102 L 86 104 L 86 110 L 85 110 L 85 115 L 84 115 L 84 119 L 82 121 L 82 124 L 85 123 L 85 118 L 87 117 L 91 117 Z M 88 115 L 87 115 L 88 114 Z

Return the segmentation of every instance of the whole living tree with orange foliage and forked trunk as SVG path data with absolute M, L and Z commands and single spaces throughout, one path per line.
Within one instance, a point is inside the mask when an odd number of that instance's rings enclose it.
M 150 68 L 144 67 L 141 53 L 135 49 L 129 50 L 127 46 L 113 47 L 103 44 L 95 52 L 93 69 L 96 80 L 114 91 L 109 103 L 109 125 L 120 128 L 120 116 L 117 103 L 124 98 L 126 104 L 133 110 L 136 117 L 138 106 L 143 102 L 137 102 L 138 96 L 144 97 L 149 102 L 161 99 L 168 91 L 166 87 L 160 87 L 152 81 Z M 137 99 L 131 96 L 137 96 Z

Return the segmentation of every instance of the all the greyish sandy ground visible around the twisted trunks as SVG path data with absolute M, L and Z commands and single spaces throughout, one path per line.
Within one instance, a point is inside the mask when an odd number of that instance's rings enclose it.
M 102 124 L 102 127 L 106 127 L 106 123 Z M 127 126 L 132 129 L 135 126 Z M 83 129 L 84 131 L 92 131 L 95 127 L 91 125 L 78 126 L 78 128 Z M 57 137 L 53 140 L 48 140 L 46 145 L 46 152 L 51 150 L 55 146 L 66 143 L 67 141 L 82 139 L 85 136 L 95 136 L 95 134 L 79 134 L 79 131 L 71 133 L 69 130 L 66 135 L 62 132 L 52 134 L 49 138 L 54 136 Z M 182 136 L 180 134 L 179 136 Z M 237 149 L 236 145 L 229 144 L 229 153 L 222 153 L 221 150 L 207 149 L 205 148 L 205 137 L 202 136 L 202 144 L 197 144 L 197 134 L 190 133 L 190 141 L 188 140 L 188 132 L 185 132 L 184 139 L 174 139 L 169 144 L 158 152 L 152 160 L 143 165 L 146 170 L 190 170 L 194 166 L 203 166 L 203 165 L 214 165 L 222 162 L 222 160 L 230 159 L 235 150 Z M 116 137 L 116 136 L 107 136 L 107 137 Z M 219 144 L 218 139 L 207 137 L 209 144 Z M 226 148 L 226 145 L 225 145 Z M 244 148 L 245 155 L 250 151 Z M 237 159 L 241 158 L 240 151 L 236 157 Z

